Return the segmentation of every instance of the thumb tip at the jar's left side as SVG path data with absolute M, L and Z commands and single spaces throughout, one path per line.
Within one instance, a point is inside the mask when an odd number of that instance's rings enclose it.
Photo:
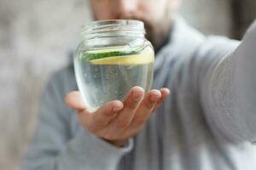
M 74 110 L 81 112 L 86 110 L 84 100 L 82 99 L 79 91 L 73 91 L 65 97 L 65 102 L 68 106 L 72 107 Z

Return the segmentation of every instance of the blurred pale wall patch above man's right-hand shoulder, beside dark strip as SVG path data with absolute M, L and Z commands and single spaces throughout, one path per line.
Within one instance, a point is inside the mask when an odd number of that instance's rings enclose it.
M 231 36 L 230 0 L 182 0 L 181 14 L 207 35 Z

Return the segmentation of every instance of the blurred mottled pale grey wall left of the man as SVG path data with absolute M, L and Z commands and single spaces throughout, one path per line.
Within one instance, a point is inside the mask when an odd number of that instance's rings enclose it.
M 18 169 L 38 96 L 88 20 L 84 0 L 0 1 L 0 169 Z

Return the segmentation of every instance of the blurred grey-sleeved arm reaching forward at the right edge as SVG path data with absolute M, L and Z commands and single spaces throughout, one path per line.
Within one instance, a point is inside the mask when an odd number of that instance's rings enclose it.
M 224 43 L 218 47 L 227 48 Z M 200 75 L 201 104 L 213 131 L 231 141 L 253 143 L 256 140 L 256 22 L 235 51 L 212 59 Z

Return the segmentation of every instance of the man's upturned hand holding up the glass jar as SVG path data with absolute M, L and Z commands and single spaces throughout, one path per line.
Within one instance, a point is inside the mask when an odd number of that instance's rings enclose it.
M 80 125 L 109 143 L 121 146 L 139 133 L 151 113 L 169 94 L 169 89 L 161 88 L 144 95 L 143 88 L 134 87 L 123 102 L 110 101 L 94 113 L 86 110 L 78 91 L 67 94 L 65 100 L 67 105 L 76 110 Z

